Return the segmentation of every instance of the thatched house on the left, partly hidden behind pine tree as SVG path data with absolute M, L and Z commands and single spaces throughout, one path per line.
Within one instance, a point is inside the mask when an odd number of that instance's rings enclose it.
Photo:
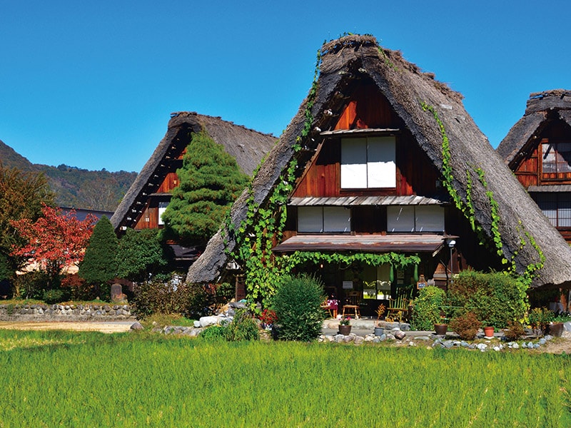
M 161 214 L 171 200 L 171 190 L 178 185 L 176 170 L 183 165 L 182 159 L 186 146 L 191 141 L 191 133 L 202 130 L 206 130 L 216 143 L 224 146 L 226 152 L 236 158 L 238 166 L 248 175 L 252 175 L 277 140 L 270 134 L 259 133 L 219 117 L 184 111 L 172 113 L 166 135 L 111 217 L 116 233 L 121 235 L 127 228 L 163 227 Z M 182 265 L 186 263 L 186 266 L 196 259 L 201 250 L 172 246 L 176 258 Z

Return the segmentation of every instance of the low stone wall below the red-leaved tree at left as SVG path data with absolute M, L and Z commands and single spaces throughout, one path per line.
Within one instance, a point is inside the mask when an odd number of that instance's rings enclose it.
M 135 320 L 128 305 L 0 305 L 0 321 Z

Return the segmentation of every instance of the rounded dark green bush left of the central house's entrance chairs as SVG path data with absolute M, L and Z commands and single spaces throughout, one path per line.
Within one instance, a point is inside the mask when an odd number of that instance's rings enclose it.
M 313 277 L 285 277 L 276 290 L 273 310 L 278 316 L 279 338 L 314 340 L 320 335 L 325 312 L 323 284 Z

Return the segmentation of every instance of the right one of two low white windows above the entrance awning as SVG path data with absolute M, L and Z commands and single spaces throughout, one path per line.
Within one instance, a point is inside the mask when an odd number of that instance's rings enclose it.
M 444 209 L 439 205 L 387 207 L 389 232 L 444 232 Z

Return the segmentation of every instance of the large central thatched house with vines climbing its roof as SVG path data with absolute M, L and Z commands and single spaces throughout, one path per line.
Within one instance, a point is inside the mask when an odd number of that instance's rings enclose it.
M 300 251 L 420 257 L 415 267 L 397 261 L 303 267 L 320 273 L 338 295 L 353 287 L 363 298 L 386 297 L 421 274 L 445 286 L 450 265 L 453 272 L 502 269 L 502 258 L 523 272 L 540 263 L 540 255 L 545 265 L 534 286 L 570 284 L 569 246 L 477 128 L 460 93 L 400 52 L 378 46 L 373 36 L 346 36 L 324 44 L 321 53 L 308 98 L 251 190 L 234 203 L 232 227 L 210 240 L 188 270 L 188 282 L 224 280 L 230 267 L 238 267 L 227 255 L 237 250 L 237 234 L 254 240 L 256 219 L 267 215 L 261 209 L 282 212 L 276 192 L 291 173 L 288 217 L 274 257 L 290 260 Z

